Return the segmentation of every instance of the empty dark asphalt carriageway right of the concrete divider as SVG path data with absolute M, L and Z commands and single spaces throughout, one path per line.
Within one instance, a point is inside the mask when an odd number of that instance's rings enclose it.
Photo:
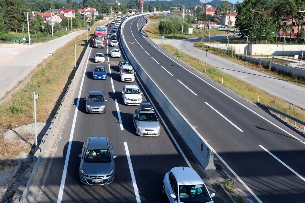
M 303 202 L 303 133 L 156 47 L 139 32 L 145 23 L 138 16 L 124 24 L 128 48 L 243 183 L 246 198 Z

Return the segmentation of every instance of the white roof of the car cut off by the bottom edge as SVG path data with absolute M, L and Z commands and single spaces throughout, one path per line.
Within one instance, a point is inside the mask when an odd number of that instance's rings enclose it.
M 174 174 L 178 185 L 204 185 L 197 172 L 189 167 L 175 167 L 170 172 Z

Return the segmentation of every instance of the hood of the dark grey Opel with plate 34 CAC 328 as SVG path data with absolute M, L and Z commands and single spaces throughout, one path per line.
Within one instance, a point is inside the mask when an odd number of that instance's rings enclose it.
M 98 174 L 104 174 L 105 176 L 113 169 L 113 162 L 109 163 L 90 163 L 82 162 L 81 169 L 89 176 L 97 176 Z M 96 173 L 96 174 L 94 174 Z

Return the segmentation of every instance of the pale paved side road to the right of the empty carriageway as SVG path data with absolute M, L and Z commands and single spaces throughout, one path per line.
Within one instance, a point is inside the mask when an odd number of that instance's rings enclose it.
M 221 36 L 210 37 L 210 40 L 221 39 Z M 161 40 L 152 39 L 156 44 L 161 44 Z M 197 49 L 193 46 L 194 42 L 200 39 L 186 39 L 186 40 L 164 40 L 164 44 L 170 44 L 177 49 L 192 55 L 195 58 L 205 61 L 206 52 Z M 305 109 L 305 88 L 285 82 L 275 77 L 271 77 L 264 73 L 249 69 L 234 62 L 223 59 L 219 56 L 207 54 L 207 63 L 220 68 L 225 73 L 228 73 L 240 80 L 254 85 L 278 98 L 281 98 L 293 105 Z

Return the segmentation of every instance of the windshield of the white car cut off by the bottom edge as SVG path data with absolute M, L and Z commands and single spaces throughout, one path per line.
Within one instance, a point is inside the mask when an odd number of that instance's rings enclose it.
M 204 185 L 179 185 L 180 201 L 186 203 L 212 201 Z

